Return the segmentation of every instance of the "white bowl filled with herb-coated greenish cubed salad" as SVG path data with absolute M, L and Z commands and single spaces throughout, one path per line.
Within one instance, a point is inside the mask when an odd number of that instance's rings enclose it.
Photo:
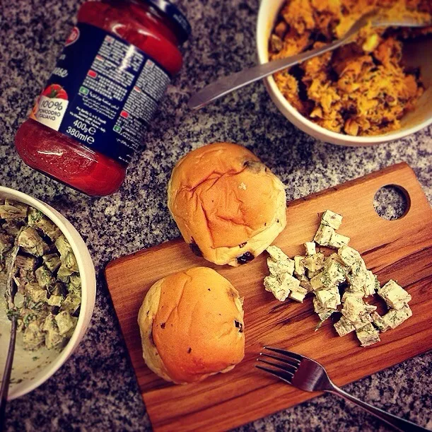
M 0 187 L 0 367 L 17 319 L 8 399 L 34 390 L 71 356 L 91 320 L 95 269 L 86 243 L 51 206 Z

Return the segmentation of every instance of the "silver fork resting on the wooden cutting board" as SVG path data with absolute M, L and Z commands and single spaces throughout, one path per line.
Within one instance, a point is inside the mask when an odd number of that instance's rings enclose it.
M 416 424 L 411 423 L 411 421 L 393 416 L 382 409 L 366 404 L 366 402 L 344 392 L 344 390 L 341 390 L 337 385 L 332 383 L 332 380 L 330 380 L 329 375 L 327 375 L 324 366 L 320 365 L 317 361 L 312 360 L 312 358 L 300 356 L 300 354 L 285 351 L 284 349 L 270 348 L 269 346 L 264 346 L 264 350 L 272 351 L 280 354 L 280 356 L 269 354 L 267 351 L 259 353 L 257 361 L 265 363 L 268 366 L 271 366 L 271 368 L 259 365 L 255 365 L 255 368 L 265 370 L 266 372 L 271 373 L 277 378 L 280 378 L 286 383 L 291 384 L 300 390 L 304 390 L 305 392 L 317 392 L 322 390 L 343 397 L 344 399 L 358 405 L 358 407 L 363 408 L 365 411 L 368 411 L 369 414 L 385 421 L 385 423 L 398 431 L 428 431 L 428 429 L 417 426 Z M 265 360 L 264 357 L 272 358 L 278 363 Z

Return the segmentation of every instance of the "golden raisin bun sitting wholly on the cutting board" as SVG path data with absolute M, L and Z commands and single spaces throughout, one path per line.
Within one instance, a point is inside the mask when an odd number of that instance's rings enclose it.
M 147 366 L 177 384 L 228 372 L 245 355 L 242 303 L 230 282 L 208 267 L 160 279 L 138 315 Z

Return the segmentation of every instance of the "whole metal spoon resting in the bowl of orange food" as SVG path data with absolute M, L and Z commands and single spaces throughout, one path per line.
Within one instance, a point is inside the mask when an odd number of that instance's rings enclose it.
M 197 110 L 214 100 L 221 98 L 223 95 L 231 93 L 238 88 L 247 86 L 247 84 L 258 81 L 266 76 L 274 74 L 275 72 L 294 66 L 295 64 L 305 62 L 305 60 L 319 56 L 325 52 L 333 51 L 334 49 L 351 42 L 353 36 L 368 23 L 370 23 L 372 28 L 426 27 L 427 25 L 431 25 L 431 23 L 419 22 L 410 17 L 395 19 L 386 16 L 379 16 L 375 12 L 366 13 L 361 18 L 358 18 L 341 39 L 335 40 L 325 47 L 310 49 L 310 51 L 302 52 L 301 54 L 274 60 L 273 62 L 265 64 L 259 64 L 250 69 L 244 69 L 243 71 L 237 72 L 236 74 L 224 76 L 223 78 L 218 79 L 218 81 L 209 84 L 209 86 L 204 87 L 198 93 L 192 95 L 192 98 L 189 99 L 187 105 L 189 108 L 192 108 L 192 110 Z

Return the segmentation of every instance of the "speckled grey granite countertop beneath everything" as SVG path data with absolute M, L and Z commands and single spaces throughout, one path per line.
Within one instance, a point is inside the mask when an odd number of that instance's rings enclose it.
M 194 29 L 185 67 L 160 107 L 146 146 L 122 189 L 93 199 L 26 167 L 13 136 L 54 66 L 78 2 L 32 0 L 0 4 L 0 184 L 44 200 L 74 223 L 98 270 L 91 327 L 63 368 L 30 395 L 8 405 L 8 431 L 144 431 L 150 428 L 103 281 L 111 259 L 179 234 L 168 216 L 165 187 L 185 152 L 211 141 L 255 151 L 288 185 L 288 199 L 370 173 L 401 160 L 414 168 L 432 201 L 432 128 L 373 148 L 322 144 L 289 124 L 262 83 L 200 112 L 186 109 L 204 83 L 255 62 L 258 0 L 181 0 Z M 432 428 L 432 354 L 384 370 L 346 391 Z M 377 421 L 332 395 L 243 426 L 239 431 L 373 431 Z

